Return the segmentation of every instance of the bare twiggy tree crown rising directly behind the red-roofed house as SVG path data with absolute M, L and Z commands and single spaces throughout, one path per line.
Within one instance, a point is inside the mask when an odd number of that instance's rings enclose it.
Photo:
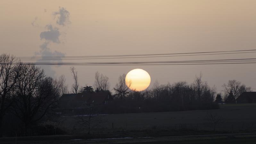
M 98 71 L 95 73 L 95 81 L 94 81 L 94 87 L 95 89 L 99 90 L 109 90 L 110 83 L 109 78 L 107 76 L 104 76 L 103 74 L 100 74 Z

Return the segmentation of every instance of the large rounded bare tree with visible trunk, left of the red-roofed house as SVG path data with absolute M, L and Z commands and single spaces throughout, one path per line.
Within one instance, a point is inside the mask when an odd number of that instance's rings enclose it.
M 15 94 L 13 113 L 24 123 L 27 134 L 31 124 L 56 108 L 59 84 L 53 78 L 45 77 L 44 71 L 35 65 L 22 65 Z

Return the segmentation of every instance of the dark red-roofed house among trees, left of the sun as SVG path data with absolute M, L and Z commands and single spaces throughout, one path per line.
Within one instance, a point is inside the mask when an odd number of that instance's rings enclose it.
M 58 111 L 62 115 L 79 115 L 85 108 L 96 105 L 98 107 L 113 100 L 110 91 L 86 90 L 77 94 L 63 94 L 58 101 Z

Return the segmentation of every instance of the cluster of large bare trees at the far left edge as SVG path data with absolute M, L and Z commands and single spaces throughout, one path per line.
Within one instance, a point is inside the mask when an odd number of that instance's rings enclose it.
M 60 95 L 59 80 L 45 76 L 44 70 L 33 64 L 23 64 L 12 55 L 1 54 L 0 136 L 5 115 L 15 117 L 17 128 L 27 135 L 33 124 L 53 113 Z

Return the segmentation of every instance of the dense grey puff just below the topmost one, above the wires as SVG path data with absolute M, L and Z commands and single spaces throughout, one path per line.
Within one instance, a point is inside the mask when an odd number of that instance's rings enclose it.
M 58 28 L 54 27 L 49 24 L 46 25 L 46 28 L 48 31 L 43 31 L 40 33 L 40 38 L 45 39 L 46 41 L 51 41 L 53 43 L 60 43 L 59 37 L 60 37 L 60 31 Z

